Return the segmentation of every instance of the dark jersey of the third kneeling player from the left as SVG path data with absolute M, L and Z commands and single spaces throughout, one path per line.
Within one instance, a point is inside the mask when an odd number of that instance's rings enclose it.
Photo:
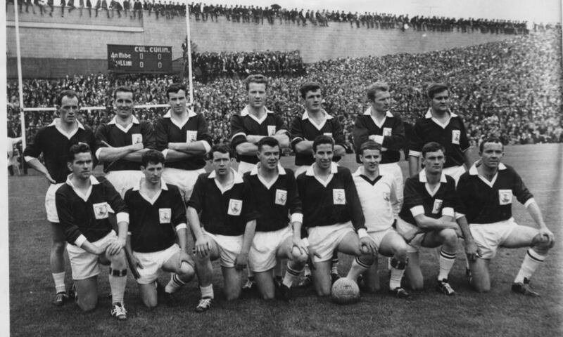
M 258 218 L 251 186 L 233 171 L 234 183 L 220 190 L 215 171 L 202 173 L 196 180 L 188 206 L 201 212 L 201 225 L 212 234 L 236 236 L 244 234 L 246 223 Z

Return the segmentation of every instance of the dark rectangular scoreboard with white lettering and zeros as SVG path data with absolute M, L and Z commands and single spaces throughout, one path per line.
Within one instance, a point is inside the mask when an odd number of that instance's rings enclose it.
M 108 70 L 119 73 L 170 73 L 172 47 L 108 44 Z

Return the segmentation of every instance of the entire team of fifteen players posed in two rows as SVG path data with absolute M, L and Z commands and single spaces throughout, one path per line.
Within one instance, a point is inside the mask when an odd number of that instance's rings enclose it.
M 53 237 L 53 304 L 72 296 L 82 310 L 94 309 L 101 263 L 110 265 L 112 315 L 126 319 L 129 264 L 148 307 L 157 305 L 159 295 L 172 303 L 172 293 L 197 274 L 196 312 L 203 312 L 213 303 L 210 261 L 216 259 L 228 300 L 239 297 L 246 265 L 262 298 L 289 300 L 303 269 L 317 294 L 327 296 L 339 277 L 337 252 L 355 256 L 346 277 L 369 291 L 379 289 L 377 255 L 390 257 L 389 291 L 408 298 L 403 275 L 411 289 L 422 289 L 419 249 L 438 246 L 436 288 L 453 295 L 448 274 L 458 238 L 477 291 L 490 288 L 488 265 L 499 246 L 529 246 L 512 291 L 538 295 L 529 279 L 554 244 L 553 234 L 519 175 L 502 164 L 500 140 L 484 140 L 481 158 L 470 161 L 463 121 L 449 110 L 447 86 L 428 88 L 430 107 L 412 131 L 404 188 L 398 161 L 405 128 L 390 111 L 386 84 L 367 88 L 370 106 L 356 117 L 353 136 L 361 165 L 355 173 L 336 164 L 346 153 L 345 139 L 339 120 L 322 109 L 319 84 L 301 86 L 304 111 L 289 128 L 265 107 L 267 86 L 262 75 L 246 79 L 248 105 L 231 119 L 230 147 L 212 146 L 205 117 L 186 107 L 182 84 L 167 89 L 170 110 L 154 125 L 134 117 L 130 88 L 116 88 L 115 117 L 95 134 L 77 119 L 79 95 L 59 93 L 60 117 L 39 130 L 24 152 L 27 163 L 51 183 L 45 204 Z M 295 171 L 279 163 L 290 146 Z M 210 173 L 205 157 L 213 166 Z M 238 171 L 232 169 L 235 158 Z M 91 174 L 98 161 L 105 178 Z M 514 222 L 513 195 L 538 230 Z M 74 280 L 68 293 L 66 242 Z M 288 259 L 284 277 L 281 259 Z M 166 286 L 157 282 L 160 270 L 172 272 Z

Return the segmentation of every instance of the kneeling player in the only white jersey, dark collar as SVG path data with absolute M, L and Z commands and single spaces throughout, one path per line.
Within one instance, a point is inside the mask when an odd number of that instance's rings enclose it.
M 408 298 L 410 294 L 400 286 L 407 266 L 407 243 L 393 229 L 400 201 L 396 196 L 395 177 L 392 174 L 379 175 L 381 145 L 367 140 L 359 149 L 359 159 L 363 166 L 353 174 L 358 197 L 365 216 L 367 233 L 377 247 L 377 252 L 391 258 L 391 279 L 389 291 L 398 298 Z M 367 260 L 373 263 L 373 260 Z M 353 275 L 355 276 L 355 275 Z M 379 290 L 377 264 L 364 272 L 364 283 L 369 291 Z

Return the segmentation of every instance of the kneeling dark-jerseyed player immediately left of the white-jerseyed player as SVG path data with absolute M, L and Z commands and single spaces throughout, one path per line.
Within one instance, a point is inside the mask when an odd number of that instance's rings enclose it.
M 334 140 L 320 135 L 312 144 L 315 163 L 297 177 L 299 197 L 303 202 L 303 224 L 315 270 L 312 280 L 319 296 L 331 291 L 331 258 L 334 251 L 357 256 L 348 277 L 354 281 L 369 263 L 361 260 L 375 253 L 375 243 L 365 228 L 365 218 L 350 171 L 332 162 Z M 356 233 L 358 231 L 358 233 Z M 359 237 L 358 237 L 359 236 Z

